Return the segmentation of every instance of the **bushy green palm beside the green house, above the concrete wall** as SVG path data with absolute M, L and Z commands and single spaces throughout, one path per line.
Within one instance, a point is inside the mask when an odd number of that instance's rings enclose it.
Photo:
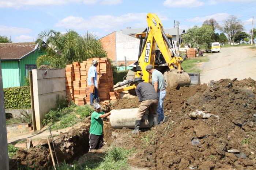
M 82 62 L 87 58 L 105 57 L 101 42 L 92 33 L 81 36 L 69 30 L 61 33 L 52 29 L 38 34 L 39 46 L 44 47 L 45 54 L 37 59 L 37 66 L 49 64 L 53 68 L 63 68 L 72 62 Z

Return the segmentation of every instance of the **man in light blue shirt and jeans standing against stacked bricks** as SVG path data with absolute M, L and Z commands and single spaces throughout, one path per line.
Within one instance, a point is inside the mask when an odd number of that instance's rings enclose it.
M 91 67 L 88 71 L 88 78 L 87 78 L 87 82 L 89 86 L 95 86 L 95 90 L 94 93 L 90 93 L 90 104 L 94 104 L 94 103 L 99 103 L 99 92 L 98 92 L 98 82 L 97 82 L 97 74 L 101 74 L 101 73 L 97 73 L 97 67 L 98 66 L 98 61 L 97 60 L 93 60 L 93 63 L 91 63 Z

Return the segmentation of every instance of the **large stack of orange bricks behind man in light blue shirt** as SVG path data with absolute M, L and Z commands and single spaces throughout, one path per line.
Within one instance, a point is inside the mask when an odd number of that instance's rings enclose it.
M 99 62 L 97 72 L 101 73 L 97 76 L 100 104 L 120 99 L 119 94 L 113 90 L 113 72 L 109 59 L 92 58 L 82 63 L 74 62 L 65 68 L 67 99 L 73 100 L 77 105 L 90 104 L 90 86 L 87 84 L 87 78 L 93 60 Z

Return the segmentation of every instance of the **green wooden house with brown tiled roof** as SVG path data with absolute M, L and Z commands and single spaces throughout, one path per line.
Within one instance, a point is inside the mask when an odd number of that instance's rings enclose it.
M 4 88 L 24 86 L 29 70 L 37 68 L 36 60 L 43 54 L 35 42 L 0 43 Z

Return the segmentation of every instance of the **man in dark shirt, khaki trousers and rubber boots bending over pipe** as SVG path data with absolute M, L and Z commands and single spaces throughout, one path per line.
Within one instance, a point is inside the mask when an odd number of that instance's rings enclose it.
M 155 126 L 158 124 L 157 106 L 158 106 L 158 95 L 155 92 L 154 87 L 150 83 L 143 82 L 141 78 L 134 78 L 136 86 L 136 94 L 141 102 L 139 110 L 136 115 L 135 127 L 132 134 L 139 132 L 140 123 L 142 116 L 146 114 L 148 108 L 151 107 L 151 114 L 153 115 L 153 122 Z

